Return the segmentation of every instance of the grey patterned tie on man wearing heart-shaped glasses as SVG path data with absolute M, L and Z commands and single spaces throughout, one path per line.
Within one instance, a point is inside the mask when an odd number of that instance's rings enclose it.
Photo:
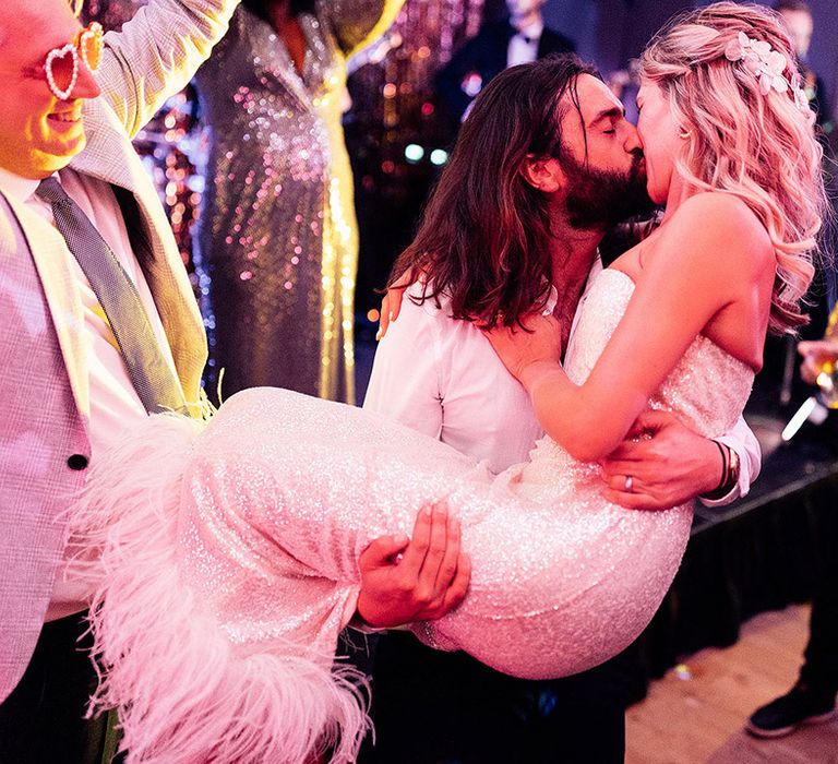
M 187 413 L 183 392 L 154 336 L 136 287 L 81 207 L 55 177 L 38 184 L 37 195 L 52 205 L 56 227 L 79 261 L 108 317 L 128 374 L 148 414 Z

